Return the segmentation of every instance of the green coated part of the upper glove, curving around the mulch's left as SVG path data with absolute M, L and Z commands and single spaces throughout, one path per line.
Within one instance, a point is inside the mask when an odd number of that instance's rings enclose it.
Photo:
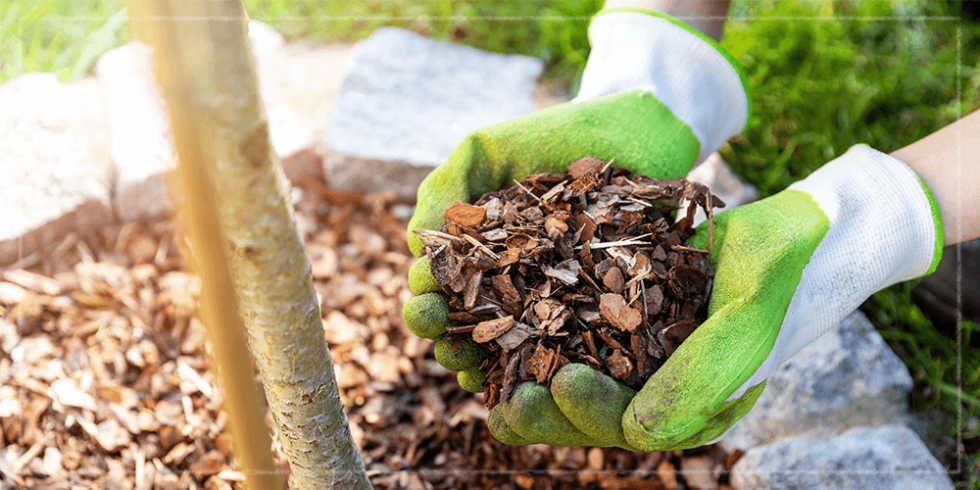
M 467 136 L 449 159 L 419 186 L 418 206 L 408 226 L 408 243 L 418 256 L 422 243 L 411 230 L 438 229 L 443 211 L 456 201 L 513 185 L 543 172 L 565 172 L 572 161 L 594 156 L 616 159 L 617 167 L 656 179 L 682 177 L 694 165 L 700 144 L 684 123 L 650 93 L 623 92 L 589 101 L 560 104 Z M 416 335 L 439 339 L 449 325 L 449 309 L 438 294 L 427 258 L 409 272 L 417 296 L 405 303 L 402 318 Z M 447 369 L 463 369 L 457 379 L 481 391 L 482 374 L 473 372 L 479 348 L 452 352 L 439 346 L 436 359 Z

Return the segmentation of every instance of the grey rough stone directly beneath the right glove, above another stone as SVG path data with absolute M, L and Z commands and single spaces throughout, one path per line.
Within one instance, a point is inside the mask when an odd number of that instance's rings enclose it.
M 721 443 L 746 450 L 804 433 L 902 424 L 908 369 L 860 311 L 779 366 L 755 406 Z

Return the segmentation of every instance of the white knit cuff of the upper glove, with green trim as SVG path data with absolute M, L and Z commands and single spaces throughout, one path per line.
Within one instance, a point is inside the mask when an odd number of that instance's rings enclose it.
M 745 127 L 748 91 L 722 48 L 650 11 L 600 13 L 589 26 L 592 52 L 574 101 L 646 90 L 687 124 L 703 161 Z

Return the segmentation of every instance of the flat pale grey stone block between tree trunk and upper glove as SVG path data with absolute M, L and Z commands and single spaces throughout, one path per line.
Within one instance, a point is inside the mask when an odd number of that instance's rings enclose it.
M 355 44 L 348 61 L 322 145 L 327 180 L 408 199 L 468 133 L 532 112 L 543 68 L 390 27 Z

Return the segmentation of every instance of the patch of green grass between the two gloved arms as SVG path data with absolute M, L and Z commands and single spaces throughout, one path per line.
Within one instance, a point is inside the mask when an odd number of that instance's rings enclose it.
M 852 145 L 890 152 L 975 110 L 980 24 L 942 2 L 750 3 L 722 45 L 738 53 L 754 103 L 745 133 L 722 150 L 762 195 L 784 189 Z M 741 5 L 739 5 L 741 6 Z M 838 20 L 841 17 L 854 20 Z M 766 18 L 801 20 L 766 20 Z M 802 20 L 807 19 L 807 20 Z M 957 28 L 962 42 L 957 100 Z

